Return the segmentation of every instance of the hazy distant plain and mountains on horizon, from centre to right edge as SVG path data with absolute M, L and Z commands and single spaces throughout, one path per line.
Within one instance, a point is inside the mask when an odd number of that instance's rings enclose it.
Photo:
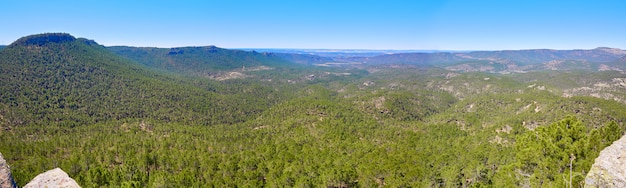
M 590 50 L 393 51 L 259 49 L 285 60 L 317 66 L 411 65 L 461 72 L 512 73 L 542 70 L 626 70 L 626 51 Z

